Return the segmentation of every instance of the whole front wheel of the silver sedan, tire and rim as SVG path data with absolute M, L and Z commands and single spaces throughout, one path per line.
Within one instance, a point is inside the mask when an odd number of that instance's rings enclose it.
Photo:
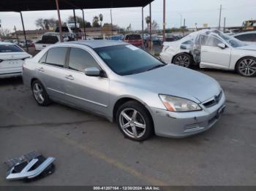
M 127 101 L 116 112 L 116 122 L 125 137 L 144 141 L 154 133 L 148 110 L 137 101 Z

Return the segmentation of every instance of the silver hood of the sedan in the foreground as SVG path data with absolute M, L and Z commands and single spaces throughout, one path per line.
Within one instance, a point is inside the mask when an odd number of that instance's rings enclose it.
M 174 95 L 200 103 L 217 95 L 219 83 L 206 74 L 181 66 L 167 66 L 124 77 L 124 83 L 154 93 Z

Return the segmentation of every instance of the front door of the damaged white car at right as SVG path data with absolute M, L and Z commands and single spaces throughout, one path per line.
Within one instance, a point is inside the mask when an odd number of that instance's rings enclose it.
M 215 36 L 201 35 L 200 67 L 229 69 L 231 48 L 218 46 L 222 40 Z

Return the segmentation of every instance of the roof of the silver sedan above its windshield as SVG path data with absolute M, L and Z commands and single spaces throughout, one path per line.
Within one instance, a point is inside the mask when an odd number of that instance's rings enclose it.
M 83 44 L 91 48 L 97 48 L 97 47 L 110 47 L 110 46 L 116 46 L 116 45 L 124 45 L 128 43 L 121 42 L 121 41 L 113 41 L 113 40 L 82 40 L 82 41 L 65 42 L 65 44 Z

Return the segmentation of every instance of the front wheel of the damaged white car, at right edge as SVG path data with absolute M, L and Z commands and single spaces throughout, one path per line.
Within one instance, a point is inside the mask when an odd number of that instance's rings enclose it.
M 244 77 L 255 77 L 256 76 L 256 58 L 248 56 L 242 58 L 236 64 L 236 71 L 238 74 Z

